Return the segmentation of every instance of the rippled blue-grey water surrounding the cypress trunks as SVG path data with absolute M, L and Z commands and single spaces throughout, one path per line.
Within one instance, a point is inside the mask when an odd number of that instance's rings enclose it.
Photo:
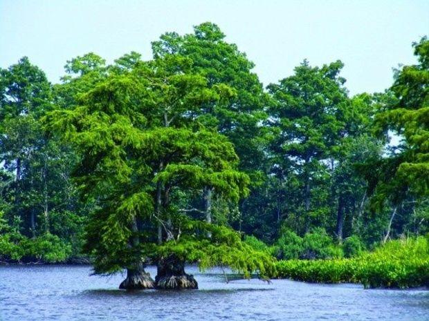
M 289 280 L 226 284 L 219 270 L 187 271 L 199 290 L 129 293 L 118 290 L 121 275 L 90 276 L 89 266 L 0 266 L 0 320 L 429 320 L 429 291 Z

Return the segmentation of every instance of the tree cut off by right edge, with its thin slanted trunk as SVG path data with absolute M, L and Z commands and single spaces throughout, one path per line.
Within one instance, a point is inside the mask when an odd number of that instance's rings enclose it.
M 390 157 L 378 161 L 376 173 L 367 175 L 374 206 L 392 207 L 383 240 L 390 236 L 395 217 L 405 212 L 410 220 L 410 213 L 415 213 L 413 208 L 404 211 L 404 204 L 419 204 L 428 197 L 429 41 L 423 37 L 413 47 L 418 64 L 396 70 L 390 88 L 394 99 L 381 106 L 375 120 L 378 133 L 390 130 L 402 139 L 399 146 L 390 148 Z

